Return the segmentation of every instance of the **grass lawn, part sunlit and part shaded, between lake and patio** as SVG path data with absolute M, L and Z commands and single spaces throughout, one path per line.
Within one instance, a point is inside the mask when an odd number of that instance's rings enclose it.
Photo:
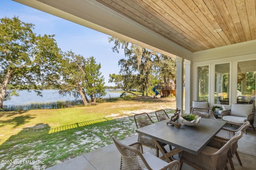
M 0 112 L 0 160 L 6 160 L 0 169 L 48 168 L 110 145 L 113 135 L 119 140 L 135 135 L 133 113 L 175 107 L 173 98 L 133 98 L 89 107 Z

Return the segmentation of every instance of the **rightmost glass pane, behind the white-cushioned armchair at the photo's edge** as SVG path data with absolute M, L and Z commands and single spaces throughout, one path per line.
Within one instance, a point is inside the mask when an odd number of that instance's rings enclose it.
M 256 60 L 237 63 L 237 103 L 254 104 Z M 252 101 L 250 102 L 250 100 Z

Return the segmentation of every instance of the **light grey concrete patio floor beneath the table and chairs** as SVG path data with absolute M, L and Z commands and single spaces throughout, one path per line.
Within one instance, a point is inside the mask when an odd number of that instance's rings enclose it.
M 227 125 L 229 129 L 237 129 L 238 126 Z M 254 127 L 256 127 L 256 121 L 254 121 Z M 122 140 L 125 144 L 136 142 L 138 135 L 129 137 Z M 144 147 L 144 152 L 148 151 L 155 154 L 154 149 Z M 168 150 L 168 147 L 166 147 Z M 256 170 L 256 131 L 253 131 L 252 127 L 247 129 L 247 134 L 243 133 L 243 136 L 238 141 L 238 154 L 240 156 L 243 166 L 240 166 L 236 156 L 232 158 L 235 170 Z M 161 153 L 160 153 L 161 155 Z M 178 154 L 174 155 L 174 159 L 179 160 Z M 120 153 L 113 144 L 106 147 L 94 150 L 92 152 L 83 154 L 66 162 L 62 162 L 47 170 L 118 170 L 120 165 Z M 228 169 L 230 165 L 228 163 Z M 182 170 L 194 170 L 194 168 L 183 164 Z

